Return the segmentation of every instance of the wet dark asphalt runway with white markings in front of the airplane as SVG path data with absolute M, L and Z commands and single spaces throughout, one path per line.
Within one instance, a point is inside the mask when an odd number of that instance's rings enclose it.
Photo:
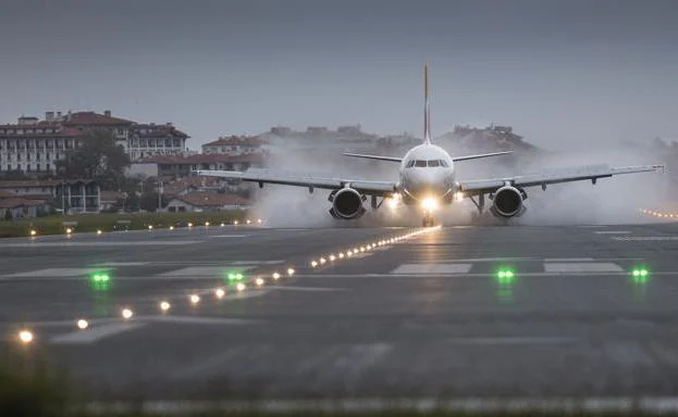
M 676 224 L 201 226 L 0 251 L 8 342 L 30 330 L 100 400 L 678 392 Z

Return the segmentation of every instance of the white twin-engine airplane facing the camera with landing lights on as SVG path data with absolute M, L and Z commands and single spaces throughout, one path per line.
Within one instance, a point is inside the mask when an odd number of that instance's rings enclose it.
M 422 213 L 422 226 L 435 224 L 433 213 L 442 205 L 449 205 L 464 198 L 470 199 L 478 208 L 478 216 L 485 211 L 485 195 L 492 201 L 490 212 L 503 219 L 520 216 L 528 198 L 526 188 L 552 184 L 591 180 L 593 185 L 599 178 L 607 178 L 620 174 L 653 172 L 662 165 L 640 165 L 626 167 L 585 166 L 569 172 L 541 173 L 533 175 L 504 178 L 457 180 L 455 163 L 494 157 L 511 153 L 511 151 L 492 152 L 465 156 L 453 156 L 443 148 L 431 142 L 431 118 L 429 106 L 429 71 L 423 68 L 423 143 L 410 149 L 403 157 L 344 153 L 346 156 L 398 163 L 396 181 L 377 181 L 358 178 L 313 177 L 304 174 L 272 173 L 267 169 L 205 170 L 194 173 L 201 176 L 239 179 L 264 184 L 306 187 L 309 192 L 316 188 L 331 190 L 329 201 L 332 203 L 330 214 L 337 219 L 350 220 L 361 217 L 366 210 L 363 203 L 371 198 L 371 208 L 378 210 L 389 200 L 391 203 L 418 205 Z M 381 201 L 379 201 L 381 199 Z

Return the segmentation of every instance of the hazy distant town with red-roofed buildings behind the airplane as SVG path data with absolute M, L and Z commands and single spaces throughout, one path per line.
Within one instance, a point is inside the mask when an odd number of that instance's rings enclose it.
M 64 175 L 58 166 L 69 152 L 88 140 L 88 131 L 103 130 L 128 157 L 125 181 L 118 186 L 96 178 Z M 309 126 L 296 131 L 274 126 L 256 136 L 220 137 L 187 148 L 188 132 L 172 123 L 139 123 L 111 111 L 46 112 L 42 119 L 21 116 L 0 125 L 0 219 L 100 212 L 204 212 L 247 208 L 251 187 L 217 178 L 196 177 L 196 169 L 246 170 L 267 167 L 276 155 L 296 151 L 318 157 L 345 151 L 402 155 L 420 142 L 409 134 L 379 136 L 360 125 L 332 130 Z M 539 150 L 509 126 L 456 126 L 437 138 L 479 151 Z M 661 143 L 655 143 L 661 148 Z M 678 153 L 678 144 L 664 143 Z M 676 160 L 675 157 L 673 160 Z M 676 169 L 678 170 L 678 169 Z

